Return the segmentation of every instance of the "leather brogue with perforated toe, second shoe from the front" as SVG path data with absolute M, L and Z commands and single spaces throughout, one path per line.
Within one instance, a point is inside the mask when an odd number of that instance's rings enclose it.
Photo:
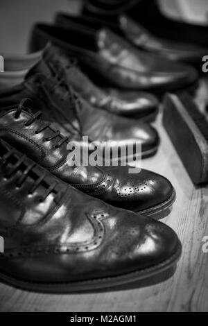
M 128 166 L 70 166 L 69 139 L 51 128 L 50 123 L 40 120 L 42 112 L 31 114 L 26 105 L 23 101 L 18 108 L 1 114 L 0 137 L 56 177 L 86 194 L 146 216 L 173 204 L 173 186 L 161 175 L 146 170 L 129 174 Z

